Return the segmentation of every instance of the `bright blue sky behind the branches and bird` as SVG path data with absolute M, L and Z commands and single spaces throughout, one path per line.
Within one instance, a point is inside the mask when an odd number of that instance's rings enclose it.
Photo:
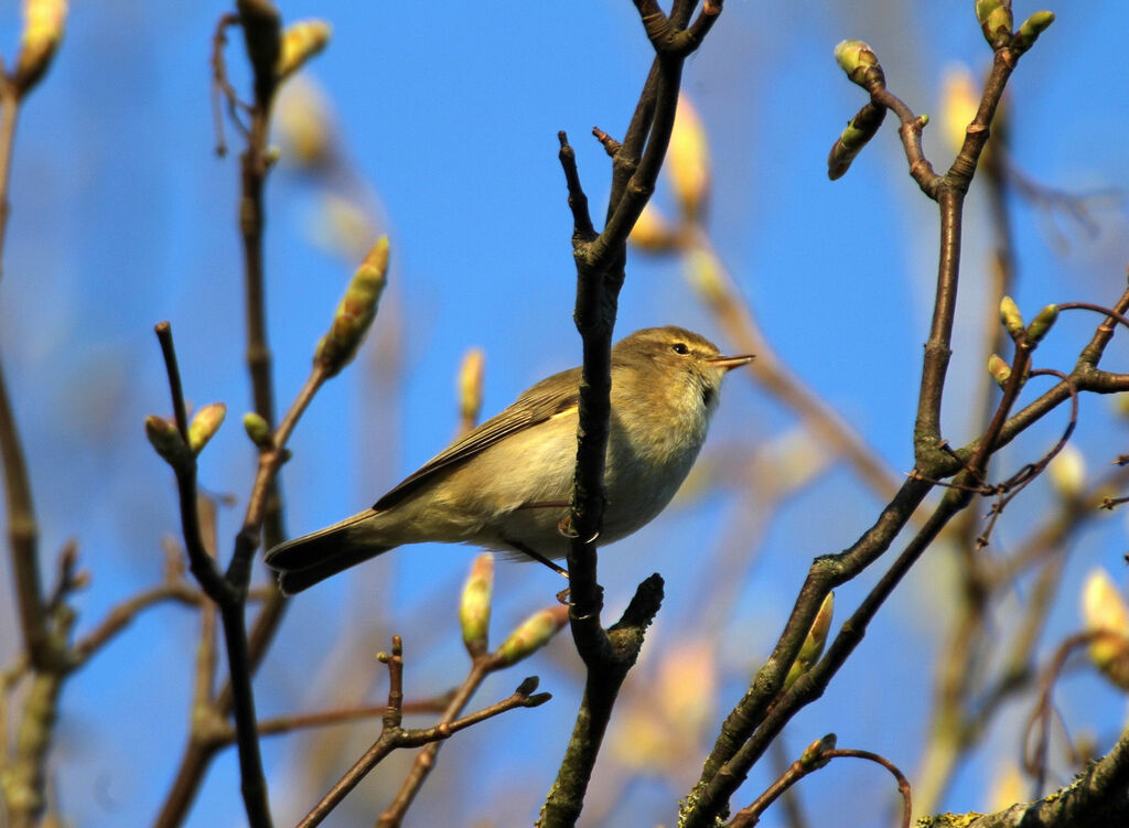
M 6 54 L 14 53 L 18 28 L 12 6 L 0 10 Z M 173 324 L 191 400 L 229 407 L 230 421 L 201 464 L 202 483 L 238 504 L 221 515 L 225 556 L 253 456 L 238 427 L 250 394 L 242 361 L 237 164 L 213 152 L 208 86 L 211 32 L 226 7 L 129 0 L 76 6 L 56 64 L 28 102 L 17 137 L 0 352 L 32 463 L 44 555 L 79 539 L 94 574 L 79 598 L 81 622 L 93 624 L 159 577 L 160 538 L 177 528 L 170 474 L 141 429 L 146 415 L 168 410 L 155 322 Z M 916 112 L 934 115 L 946 67 L 957 62 L 979 71 L 989 59 L 971 6 L 730 0 L 685 72 L 685 90 L 710 138 L 709 228 L 721 260 L 778 352 L 899 473 L 912 464 L 920 343 L 936 269 L 935 210 L 907 175 L 890 123 L 842 181 L 826 180 L 826 150 L 863 103 L 832 50 L 844 37 L 866 40 L 891 88 Z M 1017 17 L 1035 10 L 1017 6 Z M 1023 59 L 1010 87 L 1015 162 L 1058 189 L 1121 185 L 1129 162 L 1118 138 L 1127 128 L 1120 33 L 1129 10 L 1118 2 L 1064 6 L 1052 7 L 1058 21 Z M 557 131 L 569 132 L 593 211 L 602 213 L 607 159 L 588 131 L 595 124 L 622 133 L 650 47 L 627 2 L 296 2 L 282 11 L 288 20 L 316 15 L 334 25 L 330 47 L 309 71 L 332 101 L 342 156 L 364 182 L 393 251 L 369 346 L 318 395 L 292 442 L 283 486 L 288 528 L 298 533 L 370 505 L 446 445 L 457 416 L 454 378 L 467 348 L 487 354 L 487 415 L 534 381 L 576 364 L 571 228 Z M 235 68 L 242 44 L 230 44 L 227 54 L 233 76 L 243 79 Z M 949 151 L 933 127 L 926 151 L 938 168 L 947 165 Z M 318 242 L 327 191 L 358 192 L 356 182 L 333 182 L 327 190 L 286 163 L 268 188 L 269 313 L 280 404 L 305 377 L 353 267 Z M 990 242 L 980 195 L 974 189 L 969 203 L 961 306 L 966 321 L 957 325 L 946 399 L 954 443 L 972 436 L 969 390 L 983 364 L 971 321 L 982 303 L 978 288 Z M 667 193 L 657 202 L 669 210 Z M 1010 207 L 1019 263 L 1015 294 L 1024 311 L 1054 300 L 1108 303 L 1120 293 L 1127 259 L 1122 212 L 1096 210 L 1094 236 L 1061 223 L 1064 245 L 1048 232 L 1044 210 L 1017 198 Z M 726 347 L 676 261 L 634 256 L 616 330 L 667 323 Z M 1069 366 L 1092 328 L 1088 319 L 1064 320 L 1041 351 L 1047 364 Z M 1111 365 L 1124 357 L 1122 345 L 1109 351 Z M 1124 425 L 1110 416 L 1108 402 L 1083 404 L 1077 445 L 1094 469 L 1124 451 Z M 1053 425 L 1005 455 L 1007 468 L 1053 439 L 1060 420 L 1051 419 Z M 703 463 L 716 468 L 727 450 L 744 456 L 794 427 L 779 403 L 745 377 L 730 377 Z M 602 557 L 609 619 L 639 579 L 654 570 L 667 577 L 667 605 L 632 679 L 634 694 L 645 695 L 656 680 L 663 653 L 699 629 L 700 610 L 691 601 L 695 586 L 716 574 L 711 550 L 741 537 L 734 528 L 758 508 L 733 486 L 688 500 Z M 1045 488 L 1032 487 L 1001 523 L 998 549 L 1036 525 L 1048 504 Z M 726 644 L 717 653 L 714 716 L 739 696 L 774 640 L 811 558 L 852 542 L 879 506 L 839 464 L 779 511 L 758 516 L 765 521 L 762 535 L 745 555 L 755 555 L 755 564 L 733 576 L 741 589 L 721 628 Z M 1124 525 L 1115 513 L 1075 541 L 1062 605 L 1052 617 L 1056 635 L 1078 626 L 1075 595 L 1088 568 L 1105 566 L 1124 587 L 1118 569 Z M 831 691 L 797 718 L 788 733 L 793 751 L 834 730 L 840 744 L 886 753 L 907 770 L 916 766 L 930 678 L 914 656 L 936 644 L 934 621 L 946 616 L 937 590 L 946 583 L 943 557 L 924 561 Z M 464 665 L 455 602 L 471 559 L 463 548 L 403 549 L 303 595 L 256 682 L 263 713 L 317 708 L 344 687 L 379 700 L 383 676 L 371 655 L 387 647 L 393 633 L 405 638 L 410 695 L 412 688 L 427 695 L 457 681 Z M 841 592 L 841 612 L 872 579 Z M 495 639 L 551 602 L 558 589 L 541 567 L 500 564 Z M 1017 584 L 1017 594 L 1023 589 Z M 7 657 L 14 647 L 10 599 L 0 608 Z M 151 819 L 184 741 L 195 629 L 182 609 L 152 611 L 69 682 L 53 765 L 64 813 L 88 826 Z M 498 825 L 532 820 L 576 709 L 578 673 L 568 643 L 491 680 L 478 697 L 487 704 L 508 695 L 533 672 L 557 695 L 554 701 L 510 713 L 446 746 L 418 819 L 471 823 L 491 816 L 475 809 L 501 799 L 505 805 L 492 812 Z M 1106 740 L 1103 747 L 1123 720 L 1123 703 L 1096 681 L 1071 679 L 1060 701 L 1071 724 L 1094 730 Z M 1008 711 L 994 746 L 962 774 L 947 807 L 984 805 L 983 777 L 1001 756 L 1014 755 L 1014 727 L 1025 712 Z M 338 735 L 347 747 L 330 767 L 340 772 L 371 737 L 361 729 Z M 292 737 L 268 744 L 269 776 L 280 781 L 273 790 L 280 822 L 300 816 L 312 801 L 313 790 L 292 782 L 303 761 L 295 758 L 296 744 L 307 756 L 325 748 Z M 697 759 L 701 751 L 689 752 Z M 602 767 L 610 779 L 619 778 L 611 765 Z M 693 762 L 690 775 L 679 778 L 693 778 L 692 770 Z M 876 808 L 890 790 L 869 768 L 824 773 L 805 787 L 813 814 L 826 813 L 843 784 L 858 786 Z M 759 772 L 741 803 L 765 779 Z M 367 795 L 383 803 L 392 784 L 374 782 Z M 623 791 L 596 790 L 593 798 L 607 803 L 605 825 L 628 826 L 638 825 L 632 820 L 639 813 L 669 820 L 684 787 L 650 778 Z M 868 818 L 860 813 L 858 821 Z M 779 825 L 776 819 L 770 812 L 764 825 Z M 189 820 L 217 823 L 238 823 L 230 756 L 216 765 Z

